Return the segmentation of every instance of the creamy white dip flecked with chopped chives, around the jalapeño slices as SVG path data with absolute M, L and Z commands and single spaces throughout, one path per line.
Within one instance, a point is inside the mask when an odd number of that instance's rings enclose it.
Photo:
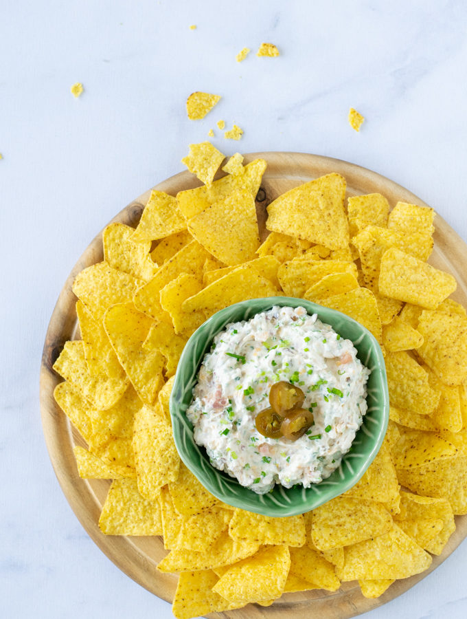
M 303 307 L 273 307 L 230 323 L 203 359 L 187 417 L 211 464 L 264 494 L 275 484 L 309 488 L 348 452 L 367 411 L 369 370 L 350 340 Z M 255 417 L 285 380 L 305 393 L 315 423 L 295 442 L 266 438 Z

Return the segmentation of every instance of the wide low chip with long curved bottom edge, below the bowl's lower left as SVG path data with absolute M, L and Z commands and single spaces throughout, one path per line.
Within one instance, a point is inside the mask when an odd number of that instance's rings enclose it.
M 231 565 L 258 552 L 260 546 L 251 542 L 240 542 L 229 537 L 227 532 L 205 552 L 175 548 L 159 565 L 160 572 L 193 572 L 198 569 L 213 569 Z

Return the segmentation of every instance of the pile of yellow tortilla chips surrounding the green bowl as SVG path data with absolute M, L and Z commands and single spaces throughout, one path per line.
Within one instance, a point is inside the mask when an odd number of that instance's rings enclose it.
M 192 148 L 214 177 L 218 151 Z M 364 596 L 423 572 L 467 513 L 467 316 L 453 276 L 426 263 L 433 210 L 382 195 L 345 201 L 329 174 L 268 207 L 260 244 L 255 195 L 266 162 L 176 197 L 153 191 L 136 230 L 104 230 L 104 261 L 73 291 L 82 340 L 54 369 L 55 398 L 87 442 L 81 477 L 111 479 L 99 525 L 109 535 L 160 535 L 161 572 L 179 572 L 174 615 L 188 619 L 288 591 Z M 209 494 L 181 463 L 169 413 L 187 338 L 247 298 L 297 296 L 367 327 L 387 366 L 391 421 L 363 478 L 313 512 L 269 518 Z M 404 486 L 402 489 L 401 486 Z

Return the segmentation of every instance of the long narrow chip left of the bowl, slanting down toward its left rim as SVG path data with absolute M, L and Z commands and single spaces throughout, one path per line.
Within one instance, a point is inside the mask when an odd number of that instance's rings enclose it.
M 150 318 L 133 303 L 113 305 L 104 316 L 104 328 L 119 362 L 141 400 L 154 406 L 163 385 L 163 356 L 157 350 L 143 349 L 151 325 Z

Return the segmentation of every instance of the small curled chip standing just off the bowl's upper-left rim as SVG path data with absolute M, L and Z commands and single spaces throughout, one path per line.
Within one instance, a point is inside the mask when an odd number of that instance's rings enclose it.
M 174 325 L 175 333 L 190 337 L 207 318 L 203 311 L 185 312 L 183 301 L 201 291 L 203 285 L 195 275 L 181 273 L 161 290 L 161 305 Z

